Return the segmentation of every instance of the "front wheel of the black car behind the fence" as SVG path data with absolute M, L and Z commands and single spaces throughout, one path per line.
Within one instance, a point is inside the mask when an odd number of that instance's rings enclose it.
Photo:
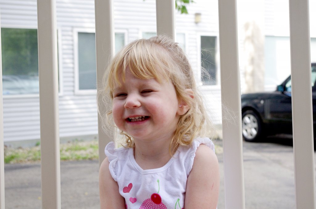
M 247 142 L 258 142 L 262 139 L 262 122 L 253 110 L 246 110 L 241 115 L 242 136 Z

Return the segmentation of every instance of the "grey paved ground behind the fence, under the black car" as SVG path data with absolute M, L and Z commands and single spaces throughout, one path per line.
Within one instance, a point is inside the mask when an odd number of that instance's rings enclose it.
M 248 209 L 295 208 L 291 138 L 269 138 L 267 143 L 243 145 L 245 196 Z M 215 144 L 222 145 L 222 140 Z M 218 209 L 225 208 L 223 155 L 218 154 L 221 188 Z M 5 208 L 37 209 L 40 164 L 5 165 Z M 98 162 L 61 162 L 63 209 L 97 209 Z

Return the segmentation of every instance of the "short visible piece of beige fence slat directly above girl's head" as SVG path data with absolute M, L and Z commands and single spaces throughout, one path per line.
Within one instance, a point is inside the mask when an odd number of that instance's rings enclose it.
M 174 0 L 156 0 L 157 34 L 167 34 L 175 40 Z

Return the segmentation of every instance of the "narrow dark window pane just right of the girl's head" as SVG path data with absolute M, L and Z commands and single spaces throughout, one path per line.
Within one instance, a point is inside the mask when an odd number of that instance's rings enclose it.
M 202 82 L 206 85 L 217 84 L 216 37 L 201 36 Z

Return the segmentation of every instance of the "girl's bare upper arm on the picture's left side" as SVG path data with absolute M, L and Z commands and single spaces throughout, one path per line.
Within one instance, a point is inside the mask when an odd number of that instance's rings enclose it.
M 125 200 L 119 194 L 119 185 L 111 176 L 109 161 L 103 160 L 99 171 L 100 209 L 125 209 Z

